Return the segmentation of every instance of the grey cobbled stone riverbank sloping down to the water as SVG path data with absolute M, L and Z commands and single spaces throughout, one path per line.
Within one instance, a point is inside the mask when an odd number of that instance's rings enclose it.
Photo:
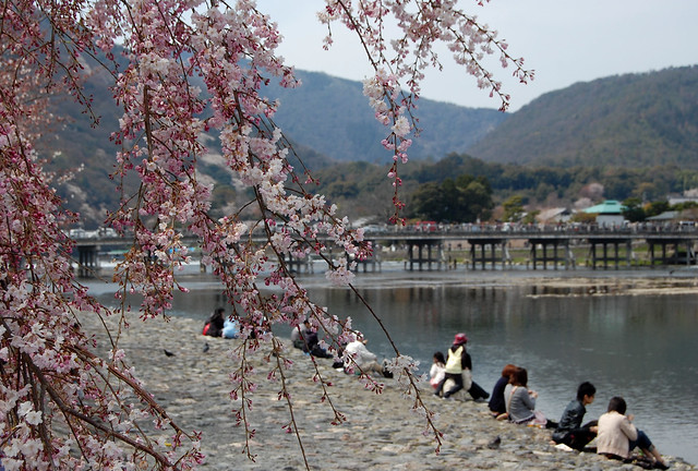
M 108 324 L 115 319 L 108 319 Z M 83 326 L 104 339 L 97 319 L 84 316 Z M 239 340 L 204 337 L 201 323 L 172 317 L 142 323 L 131 319 L 123 334 L 124 349 L 136 375 L 155 399 L 186 431 L 201 431 L 203 470 L 304 470 L 298 438 L 284 426 L 289 409 L 278 400 L 279 383 L 266 381 L 270 367 L 262 354 L 253 360 L 257 390 L 249 421 L 256 431 L 250 440 L 255 461 L 248 458 L 244 430 L 236 425 L 231 410 L 239 406 L 229 397 L 228 373 L 233 362 L 228 351 Z M 322 389 L 313 382 L 312 360 L 290 347 L 282 355 L 293 362 L 286 383 L 302 447 L 312 470 L 638 470 L 634 464 L 611 461 L 595 454 L 564 451 L 550 444 L 550 431 L 497 422 L 486 403 L 443 400 L 430 389 L 422 392 L 426 406 L 437 413 L 444 433 L 435 454 L 433 435 L 424 435 L 424 419 L 410 410 L 396 379 L 381 378 L 383 394 L 366 390 L 357 376 L 332 369 L 332 360 L 317 359 L 321 374 L 333 386 L 330 400 L 347 420 L 332 425 L 334 413 L 322 402 Z M 205 346 L 207 351 L 204 351 Z M 165 350 L 172 353 L 166 355 Z M 97 352 L 104 357 L 105 352 Z M 491 385 L 482 385 L 490 388 Z M 429 388 L 429 385 L 426 384 Z M 552 418 L 557 420 L 558 418 Z M 493 442 L 498 437 L 498 445 Z M 591 444 L 593 446 L 593 443 Z M 673 470 L 696 470 L 679 458 L 665 457 Z

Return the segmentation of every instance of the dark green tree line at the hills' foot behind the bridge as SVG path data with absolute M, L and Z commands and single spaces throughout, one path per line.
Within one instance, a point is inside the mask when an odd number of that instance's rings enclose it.
M 353 217 L 383 219 L 384 209 L 371 204 L 385 182 L 368 162 L 340 164 L 318 172 L 320 189 Z M 676 165 L 628 168 L 612 166 L 543 167 L 491 164 L 450 154 L 433 161 L 411 161 L 402 172 L 405 216 L 426 220 L 474 222 L 494 216 L 496 206 L 544 208 L 586 207 L 603 200 L 629 201 L 633 207 L 666 202 L 672 193 L 698 188 L 698 171 Z M 516 201 L 509 201 L 516 197 Z M 661 205 L 660 205 L 661 206 Z M 652 208 L 658 207 L 657 205 Z M 353 210 L 353 214 L 352 214 Z M 646 217 L 654 215 L 650 209 Z M 502 220 L 505 217 L 497 215 Z M 508 214 L 506 218 L 510 217 Z

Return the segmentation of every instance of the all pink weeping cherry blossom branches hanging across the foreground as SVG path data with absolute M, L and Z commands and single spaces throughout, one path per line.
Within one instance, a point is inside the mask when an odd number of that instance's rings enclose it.
M 413 100 L 423 69 L 440 65 L 434 44 L 446 43 L 502 98 L 503 108 L 508 97 L 482 68 L 482 56 L 500 51 L 522 81 L 531 77 L 496 34 L 456 7 L 448 0 L 326 0 L 318 15 L 328 27 L 339 22 L 356 32 L 375 69 L 364 93 L 389 130 L 383 145 L 394 155 L 388 176 L 396 221 L 404 206 L 397 165 L 407 161 L 416 131 Z M 385 36 L 388 17 L 401 37 Z M 323 345 L 337 359 L 338 346 L 356 337 L 350 319 L 313 303 L 288 266 L 290 259 L 320 256 L 327 279 L 351 288 L 357 261 L 372 247 L 336 206 L 305 188 L 312 177 L 301 178 L 289 164 L 292 147 L 273 121 L 279 104 L 264 94 L 272 82 L 300 85 L 276 53 L 280 38 L 253 0 L 10 0 L 0 12 L 0 444 L 7 470 L 186 470 L 203 461 L 202 437 L 181 430 L 144 389 L 119 333 L 98 345 L 80 322 L 117 316 L 119 328 L 129 328 L 129 293 L 142 295 L 144 322 L 166 317 L 173 292 L 185 291 L 177 277 L 190 262 L 184 233 L 198 238 L 202 264 L 220 279 L 241 325 L 243 342 L 230 352 L 237 362 L 230 397 L 242 399 L 234 414 L 248 431 L 250 457 L 254 432 L 248 413 L 256 389 L 250 358 L 270 347 L 269 379 L 284 378 L 291 367 L 272 326 L 296 327 L 308 318 L 326 334 Z M 122 110 L 112 130 L 119 146 L 112 177 L 137 181 L 132 192 L 118 186 L 121 204 L 107 216 L 131 240 L 113 273 L 121 300 L 116 312 L 75 278 L 74 246 L 64 230 L 79 216 L 62 208 L 57 182 L 35 149 L 53 119 L 52 96 L 71 95 L 89 112 L 82 76 L 88 62 L 113 77 L 110 90 Z M 204 143 L 212 138 L 236 183 L 251 195 L 220 218 L 210 216 L 212 188 L 198 172 L 210 152 Z M 333 258 L 330 247 L 341 255 Z M 264 290 L 270 286 L 280 289 Z M 110 352 L 107 359 L 95 353 L 98 347 Z M 419 396 L 417 363 L 395 350 L 389 369 L 433 427 Z M 332 407 L 328 383 L 316 377 Z M 380 391 L 371 377 L 360 378 Z M 292 398 L 280 383 L 279 399 L 290 408 Z M 341 422 L 341 412 L 334 412 L 333 423 Z M 144 432 L 146 421 L 167 430 L 167 438 Z

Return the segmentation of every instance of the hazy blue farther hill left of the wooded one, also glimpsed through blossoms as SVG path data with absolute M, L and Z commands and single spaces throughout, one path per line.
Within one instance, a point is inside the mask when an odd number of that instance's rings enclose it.
M 119 194 L 113 191 L 117 182 L 109 179 L 118 148 L 109 135 L 118 129 L 120 111 L 108 89 L 112 77 L 100 68 L 88 68 L 88 72 L 86 93 L 93 97 L 93 112 L 101 125 L 92 128 L 82 108 L 70 99 L 57 100 L 55 114 L 63 119 L 46 130 L 38 149 L 50 156 L 51 170 L 61 173 L 81 169 L 59 188 L 59 195 L 70 209 L 81 214 L 88 228 L 94 228 L 103 224 L 108 209 L 118 205 Z M 282 101 L 275 121 L 308 168 L 317 170 L 341 160 L 383 164 L 392 158 L 381 146 L 386 129 L 373 118 L 360 82 L 303 71 L 298 74 L 303 86 L 270 87 L 266 93 Z M 507 118 L 494 110 L 473 110 L 425 99 L 419 106 L 425 131 L 411 148 L 414 159 L 438 160 L 452 149 L 462 152 Z M 201 159 L 201 181 L 215 183 L 214 206 L 234 204 L 231 200 L 236 197 L 236 182 L 217 154 L 217 140 L 207 142 L 212 154 Z M 294 156 L 290 159 L 296 165 Z

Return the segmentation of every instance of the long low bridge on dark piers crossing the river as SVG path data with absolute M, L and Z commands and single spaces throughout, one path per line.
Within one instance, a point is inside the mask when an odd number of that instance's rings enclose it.
M 496 269 L 512 266 L 509 249 L 513 243 L 528 247 L 528 269 L 576 268 L 574 247 L 588 247 L 587 263 L 592 269 L 610 269 L 638 265 L 634 247 L 646 245 L 649 259 L 643 266 L 691 265 L 696 264 L 696 227 L 598 228 L 598 227 L 552 227 L 552 228 L 500 228 L 490 226 L 448 227 L 441 230 L 418 231 L 410 228 L 392 227 L 373 230 L 364 234 L 380 245 L 407 247 L 407 270 L 441 270 L 454 268 L 453 261 L 445 256 L 447 244 L 470 252 L 467 266 L 470 269 Z M 191 239 L 191 240 L 190 240 Z M 262 237 L 260 237 L 260 241 Z M 188 245 L 197 245 L 195 238 L 184 238 Z M 98 253 L 103 246 L 125 246 L 129 241 L 118 238 L 76 240 L 77 262 L 81 276 L 98 268 Z M 376 250 L 377 252 L 377 250 Z M 363 270 L 380 269 L 376 256 L 362 261 Z M 297 270 L 308 267 L 308 261 L 289 259 Z M 310 268 L 306 268 L 310 269 Z

